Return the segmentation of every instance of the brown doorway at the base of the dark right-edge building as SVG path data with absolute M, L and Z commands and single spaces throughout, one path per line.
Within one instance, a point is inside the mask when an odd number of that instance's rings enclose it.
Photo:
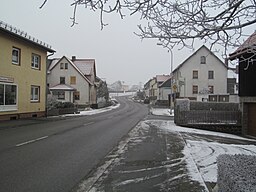
M 256 137 L 256 103 L 248 103 L 248 135 Z

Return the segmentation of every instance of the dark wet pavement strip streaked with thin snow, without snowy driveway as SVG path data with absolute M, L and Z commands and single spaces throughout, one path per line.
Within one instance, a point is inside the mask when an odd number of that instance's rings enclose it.
M 74 191 L 208 191 L 203 180 L 190 178 L 184 147 L 178 133 L 142 121 Z

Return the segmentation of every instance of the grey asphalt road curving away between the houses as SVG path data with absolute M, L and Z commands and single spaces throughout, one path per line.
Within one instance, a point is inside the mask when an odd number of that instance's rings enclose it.
M 93 116 L 0 129 L 0 191 L 70 191 L 148 113 L 146 105 L 119 102 Z

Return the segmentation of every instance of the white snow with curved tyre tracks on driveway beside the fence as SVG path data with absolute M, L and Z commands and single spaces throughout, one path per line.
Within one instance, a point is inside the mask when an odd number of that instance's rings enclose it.
M 223 138 L 223 140 L 227 138 L 248 142 L 256 142 L 256 140 L 247 139 L 231 134 L 184 128 L 176 126 L 173 121 L 150 120 L 150 122 L 158 126 L 160 125 L 160 129 L 164 129 L 169 133 L 178 133 L 180 137 L 184 139 L 185 148 L 183 153 L 186 158 L 187 168 L 192 179 L 196 181 L 200 181 L 200 177 L 198 176 L 199 172 L 205 182 L 217 182 L 216 161 L 220 154 L 242 154 L 256 156 L 255 145 L 225 144 L 215 140 L 209 141 L 209 138 L 206 137 L 218 136 Z M 190 135 L 189 139 L 185 139 L 183 134 Z M 195 135 L 194 139 L 193 135 Z

